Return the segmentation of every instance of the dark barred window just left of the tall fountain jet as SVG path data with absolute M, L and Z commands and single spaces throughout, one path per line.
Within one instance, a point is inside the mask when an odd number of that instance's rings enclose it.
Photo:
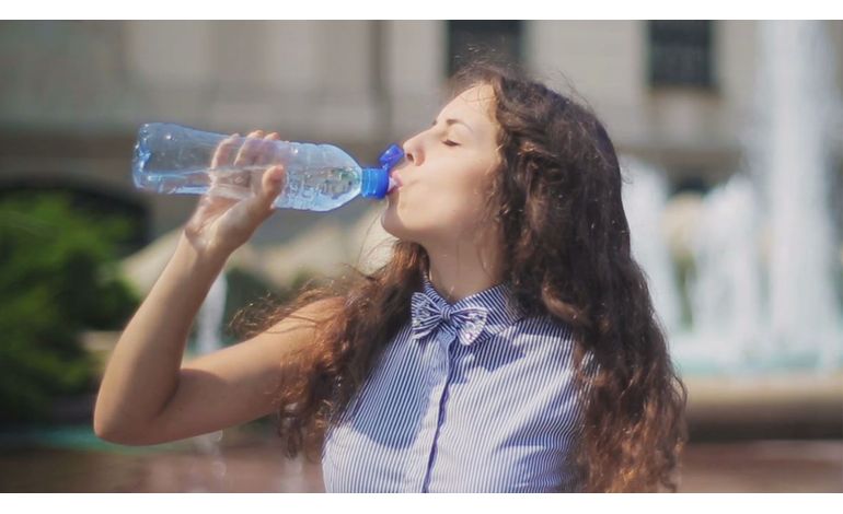
M 648 22 L 650 86 L 714 89 L 709 20 Z

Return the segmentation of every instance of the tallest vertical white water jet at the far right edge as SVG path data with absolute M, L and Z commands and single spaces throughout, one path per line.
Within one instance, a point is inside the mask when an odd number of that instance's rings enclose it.
M 760 82 L 767 86 L 759 91 L 757 125 L 758 148 L 765 152 L 757 153 L 753 172 L 767 176 L 770 343 L 790 360 L 829 371 L 843 343 L 828 207 L 830 129 L 841 114 L 835 60 L 824 22 L 766 22 L 760 28 Z

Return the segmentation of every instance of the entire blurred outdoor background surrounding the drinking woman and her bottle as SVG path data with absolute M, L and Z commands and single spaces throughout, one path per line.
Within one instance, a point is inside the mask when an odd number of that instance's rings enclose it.
M 0 22 L 0 491 L 322 491 L 274 419 L 99 440 L 109 352 L 195 196 L 149 195 L 140 124 L 261 128 L 373 163 L 473 58 L 591 105 L 689 386 L 684 492 L 843 492 L 843 22 Z M 230 259 L 186 360 L 234 313 L 388 257 L 382 205 L 286 210 Z

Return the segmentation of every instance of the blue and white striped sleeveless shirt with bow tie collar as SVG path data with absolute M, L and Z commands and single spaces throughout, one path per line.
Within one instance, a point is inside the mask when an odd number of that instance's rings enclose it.
M 508 300 L 501 283 L 449 304 L 425 277 L 412 323 L 328 428 L 327 492 L 578 491 L 571 332 Z M 419 319 L 416 306 L 446 319 Z M 485 323 L 475 307 L 487 309 Z

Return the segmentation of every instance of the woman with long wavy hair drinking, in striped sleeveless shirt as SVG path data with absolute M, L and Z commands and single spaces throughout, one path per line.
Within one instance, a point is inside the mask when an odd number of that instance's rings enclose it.
M 328 491 L 675 491 L 686 390 L 605 129 L 523 72 L 476 65 L 451 86 L 393 172 L 391 259 L 180 367 L 284 171 L 249 200 L 204 197 L 115 349 L 97 434 L 153 444 L 277 412 L 287 454 L 321 455 Z M 259 161 L 278 136 L 250 138 L 215 164 Z

